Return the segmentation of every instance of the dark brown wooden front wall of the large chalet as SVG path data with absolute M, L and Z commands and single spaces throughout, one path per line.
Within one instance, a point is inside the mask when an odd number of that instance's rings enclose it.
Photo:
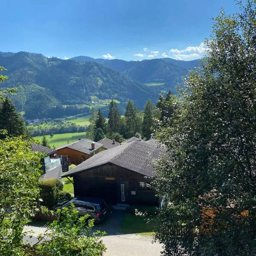
M 111 164 L 80 172 L 73 177 L 75 196 L 99 197 L 113 204 L 157 206 L 155 192 L 139 189 L 140 181 L 150 183 L 144 175 Z M 125 186 L 125 201 L 121 197 L 121 184 Z

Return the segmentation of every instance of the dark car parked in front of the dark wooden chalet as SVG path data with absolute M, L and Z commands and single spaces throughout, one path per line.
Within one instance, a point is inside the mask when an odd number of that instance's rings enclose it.
M 74 204 L 79 215 L 89 214 L 90 218 L 94 219 L 94 222 L 103 221 L 109 214 L 108 205 L 105 201 L 101 198 L 93 197 L 76 197 L 70 201 L 64 201 L 58 204 L 54 209 L 69 207 L 70 204 Z

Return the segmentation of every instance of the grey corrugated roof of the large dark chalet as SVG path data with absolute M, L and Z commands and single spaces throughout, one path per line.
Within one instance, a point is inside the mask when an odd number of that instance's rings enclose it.
M 85 160 L 83 163 L 80 163 L 62 177 L 73 176 L 76 173 L 93 169 L 107 163 L 112 163 L 142 175 L 152 177 L 155 175 L 152 160 L 156 160 L 160 153 L 166 154 L 166 150 L 145 143 L 144 141 L 134 141 L 101 151 Z

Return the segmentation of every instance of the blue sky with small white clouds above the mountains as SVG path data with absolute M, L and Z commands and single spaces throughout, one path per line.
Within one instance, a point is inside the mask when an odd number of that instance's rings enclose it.
M 200 58 L 212 16 L 234 0 L 2 0 L 2 52 L 141 60 Z

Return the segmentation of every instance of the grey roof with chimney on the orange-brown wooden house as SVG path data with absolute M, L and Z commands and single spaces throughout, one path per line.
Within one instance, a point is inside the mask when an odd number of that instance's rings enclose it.
M 85 153 L 85 154 L 91 154 L 93 151 L 97 150 L 98 148 L 101 148 L 103 145 L 97 142 L 94 142 L 95 144 L 95 149 L 92 149 L 92 140 L 87 140 L 87 139 L 83 139 L 83 140 L 78 140 L 76 142 L 70 143 L 70 144 L 66 144 L 63 145 L 59 148 L 56 148 L 56 150 L 62 149 L 62 148 L 71 148 L 74 149 L 76 151 Z

